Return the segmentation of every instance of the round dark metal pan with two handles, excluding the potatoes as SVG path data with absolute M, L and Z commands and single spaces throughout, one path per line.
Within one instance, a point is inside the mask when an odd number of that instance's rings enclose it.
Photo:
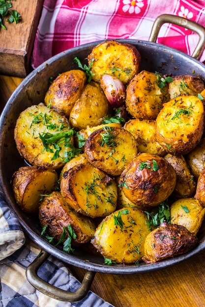
M 193 57 L 173 48 L 155 43 L 160 27 L 164 23 L 184 26 L 199 34 L 200 40 L 193 53 Z M 137 47 L 142 56 L 141 70 L 150 72 L 158 71 L 162 74 L 173 73 L 173 75 L 199 75 L 205 78 L 205 66 L 197 60 L 205 49 L 205 28 L 197 25 L 193 21 L 172 15 L 161 15 L 154 23 L 149 42 L 136 40 L 118 41 L 129 43 Z M 23 165 L 23 160 L 17 152 L 13 137 L 14 127 L 20 112 L 32 104 L 43 102 L 45 93 L 49 87 L 49 77 L 57 77 L 59 73 L 76 69 L 77 66 L 73 63 L 74 57 L 77 56 L 84 62 L 92 48 L 97 44 L 99 44 L 99 42 L 82 45 L 61 52 L 35 69 L 15 90 L 0 117 L 0 186 L 5 193 L 8 203 L 19 216 L 20 223 L 29 237 L 43 249 L 39 256 L 28 267 L 27 278 L 39 291 L 61 301 L 75 302 L 82 299 L 88 293 L 95 272 L 132 274 L 154 271 L 179 263 L 205 249 L 205 231 L 202 231 L 199 235 L 199 245 L 185 255 L 176 256 L 155 264 L 144 263 L 140 267 L 134 265 L 105 266 L 101 256 L 91 255 L 85 252 L 85 250 L 82 251 L 80 248 L 75 248 L 74 254 L 69 255 L 65 254 L 60 247 L 54 247 L 49 244 L 40 236 L 41 230 L 36 227 L 37 218 L 26 215 L 16 205 L 11 178 L 13 173 Z M 195 72 L 194 74 L 193 71 Z M 64 262 L 87 269 L 84 281 L 77 292 L 69 293 L 58 289 L 42 281 L 37 276 L 37 268 L 50 254 Z

